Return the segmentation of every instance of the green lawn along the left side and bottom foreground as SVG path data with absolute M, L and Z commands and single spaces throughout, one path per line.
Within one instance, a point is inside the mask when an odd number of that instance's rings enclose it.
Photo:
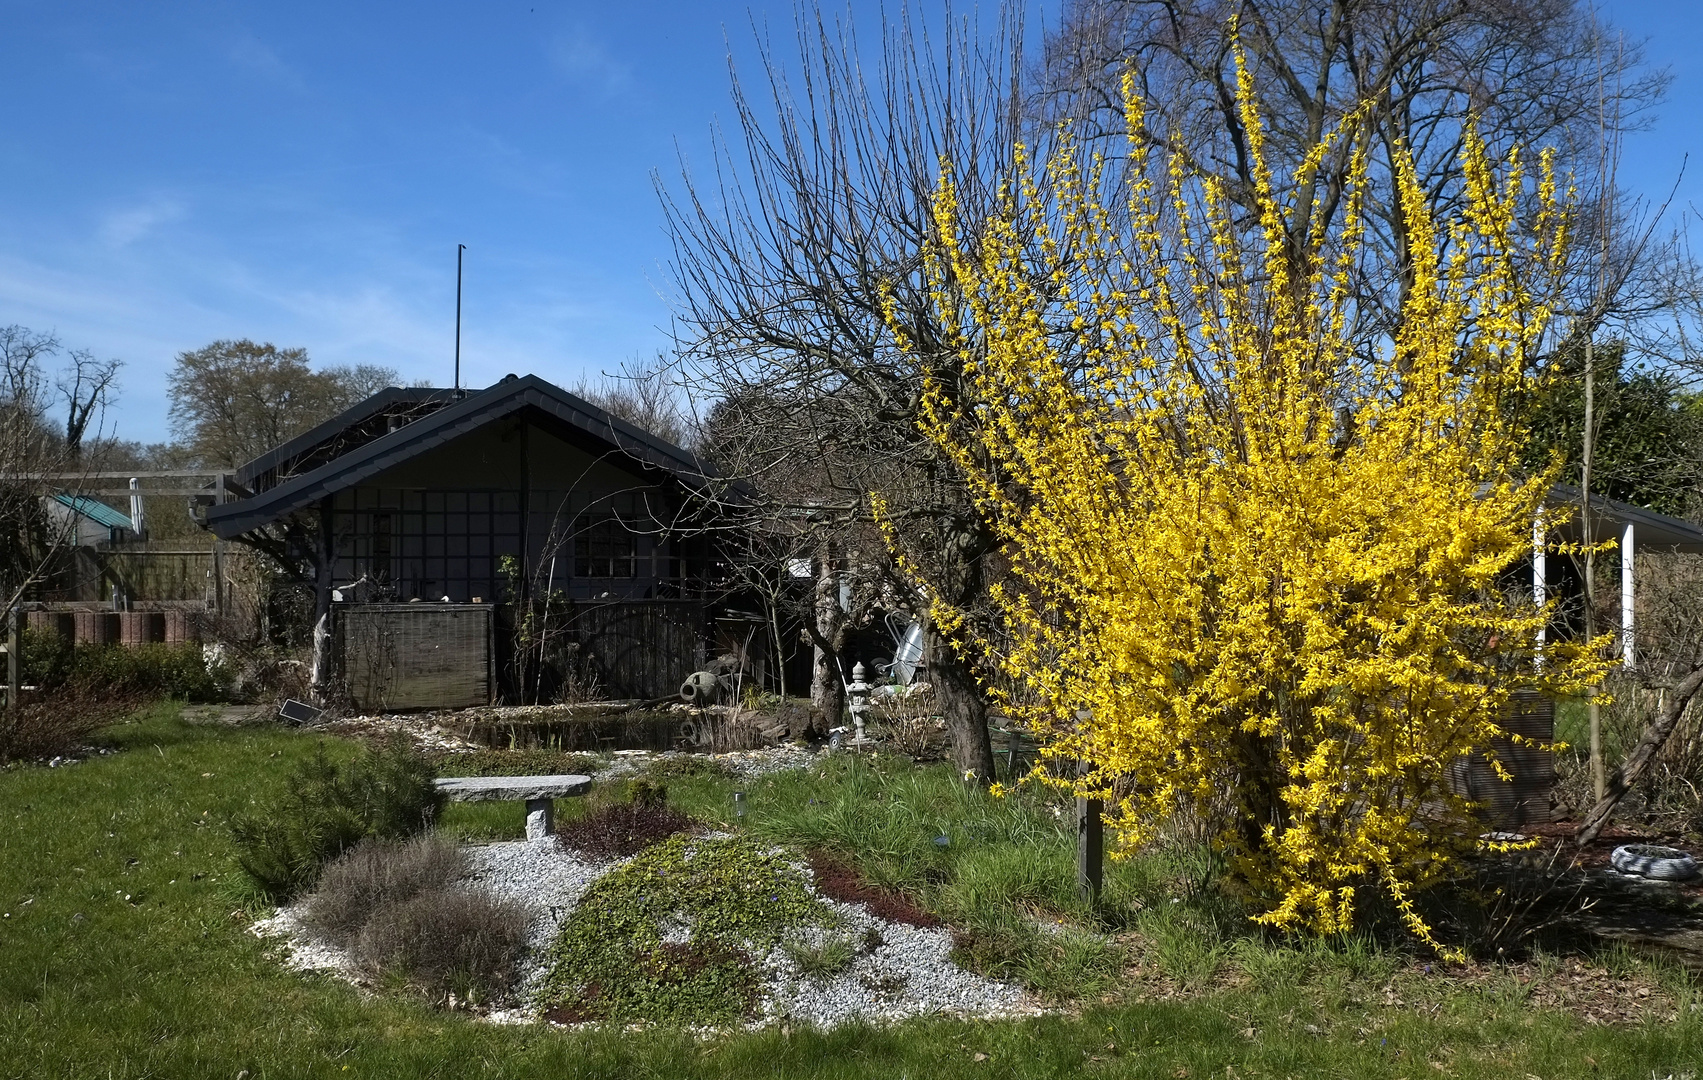
M 223 821 L 308 753 L 308 736 L 194 727 L 162 705 L 107 734 L 119 753 L 0 772 L 0 1077 L 1667 1077 L 1703 1061 L 1703 1012 L 1666 974 L 1679 1020 L 1589 1025 L 1534 1008 L 1509 978 L 1461 986 L 1402 957 L 1201 940 L 1241 971 L 1228 988 L 1122 1000 L 1024 1022 L 918 1020 L 887 1029 L 669 1031 L 492 1027 L 405 997 L 290 974 L 247 927 Z M 855 778 L 853 778 L 855 780 Z M 877 780 L 855 780 L 875 784 Z M 763 833 L 886 845 L 877 862 L 978 910 L 967 869 L 920 864 L 940 823 L 857 813 L 799 777 L 753 785 Z M 891 780 L 891 785 L 909 784 Z M 725 787 L 681 780 L 703 811 Z M 894 789 L 896 790 L 896 789 Z M 766 792 L 766 794 L 765 794 Z M 831 796 L 831 792 L 826 792 Z M 875 802 L 891 802 L 884 796 Z M 817 811 L 817 807 L 821 807 Z M 950 807 L 943 806 L 942 814 Z M 1003 811 L 1001 811 L 1003 813 Z M 833 816 L 840 816 L 834 824 Z M 848 821 L 845 818 L 850 818 Z M 906 821 L 925 836 L 904 840 Z M 867 824 L 865 824 L 867 819 Z M 816 824 L 811 824 L 816 823 Z M 519 833 L 519 807 L 456 807 L 470 835 Z M 867 835 L 857 833 L 865 828 Z M 1006 828 L 1006 826 L 1001 826 Z M 1027 828 L 1012 819 L 1008 828 Z M 913 831 L 915 831 L 913 830 Z M 955 836 L 952 860 L 996 860 L 1010 836 Z M 915 842 L 915 843 L 913 843 Z M 954 865 L 957 865 L 954 862 Z M 949 867 L 950 869 L 950 867 Z M 1005 881 L 988 870 L 986 881 Z M 932 882 L 932 884 L 930 884 Z M 954 882 L 959 882 L 954 886 Z M 1136 888 L 1136 886 L 1127 886 Z M 926 891 L 926 889 L 925 889 Z M 1141 957 L 1187 966 L 1187 939 Z M 1199 957 L 1196 957 L 1199 961 Z M 1657 973 L 1660 974 L 1660 973 Z M 1172 986 L 1175 979 L 1155 985 Z M 1386 986 L 1391 988 L 1386 993 Z M 1664 991 L 1664 993 L 1666 993 Z M 1386 1003 L 1400 998 L 1402 1003 Z

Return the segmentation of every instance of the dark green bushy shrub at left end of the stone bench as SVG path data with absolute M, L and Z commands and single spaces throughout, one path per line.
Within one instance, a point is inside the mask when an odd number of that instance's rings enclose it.
M 288 773 L 284 790 L 230 819 L 237 864 L 259 898 L 284 903 L 366 836 L 397 840 L 431 828 L 444 806 L 434 780 L 431 763 L 402 738 L 344 763 L 318 744 Z

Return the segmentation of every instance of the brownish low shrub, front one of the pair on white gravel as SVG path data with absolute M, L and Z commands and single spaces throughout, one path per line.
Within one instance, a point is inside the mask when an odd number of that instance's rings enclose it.
M 514 985 L 530 922 L 525 906 L 484 889 L 427 889 L 373 911 L 351 952 L 368 974 L 489 1002 Z

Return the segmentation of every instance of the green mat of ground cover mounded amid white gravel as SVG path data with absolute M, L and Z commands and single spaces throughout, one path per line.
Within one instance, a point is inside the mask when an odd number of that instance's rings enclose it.
M 673 836 L 586 891 L 550 947 L 540 1000 L 560 1020 L 739 1020 L 756 1005 L 751 951 L 834 922 L 766 845 Z

